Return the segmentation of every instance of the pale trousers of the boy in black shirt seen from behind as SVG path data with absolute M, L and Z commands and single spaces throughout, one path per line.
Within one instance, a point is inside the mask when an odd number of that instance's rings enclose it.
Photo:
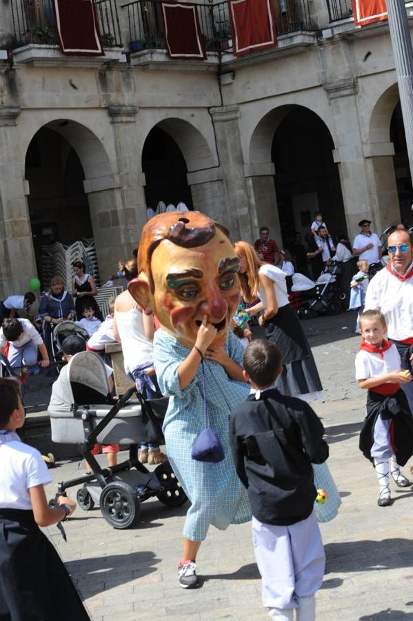
M 314 511 L 291 526 L 263 524 L 252 517 L 252 540 L 265 608 L 296 608 L 297 598 L 319 590 L 325 553 Z

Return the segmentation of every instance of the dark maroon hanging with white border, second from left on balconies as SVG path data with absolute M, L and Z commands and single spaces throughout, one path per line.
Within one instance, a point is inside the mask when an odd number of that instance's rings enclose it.
M 165 39 L 171 58 L 205 60 L 205 43 L 196 4 L 162 2 Z

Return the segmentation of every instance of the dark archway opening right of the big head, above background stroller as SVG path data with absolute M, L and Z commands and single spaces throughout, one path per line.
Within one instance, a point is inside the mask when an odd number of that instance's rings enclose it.
M 250 143 L 250 161 L 274 165 L 283 244 L 290 243 L 294 233 L 301 233 L 301 240 L 305 241 L 315 211 L 321 211 L 333 236 L 345 232 L 341 182 L 333 150 L 328 126 L 304 106 L 275 108 L 256 126 Z M 272 219 L 270 214 L 268 219 Z

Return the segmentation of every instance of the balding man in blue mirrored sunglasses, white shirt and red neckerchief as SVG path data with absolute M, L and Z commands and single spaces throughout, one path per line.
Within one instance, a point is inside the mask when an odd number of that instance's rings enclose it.
M 390 262 L 370 281 L 365 311 L 379 308 L 387 323 L 387 336 L 401 357 L 403 368 L 413 362 L 413 235 L 395 230 L 387 241 Z M 413 412 L 413 382 L 403 384 Z

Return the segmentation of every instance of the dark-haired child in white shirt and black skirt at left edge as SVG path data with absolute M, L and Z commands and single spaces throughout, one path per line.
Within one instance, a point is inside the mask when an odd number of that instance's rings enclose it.
M 76 509 L 67 496 L 50 508 L 51 477 L 39 451 L 21 442 L 19 384 L 0 378 L 0 616 L 2 619 L 90 621 L 72 580 L 39 526 L 63 522 Z

